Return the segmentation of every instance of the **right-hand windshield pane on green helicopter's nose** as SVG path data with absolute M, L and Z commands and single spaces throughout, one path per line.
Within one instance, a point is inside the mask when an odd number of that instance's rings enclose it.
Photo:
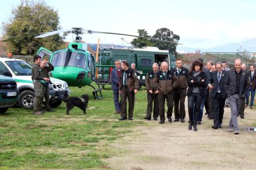
M 72 52 L 68 66 L 86 68 L 85 54 L 80 52 Z

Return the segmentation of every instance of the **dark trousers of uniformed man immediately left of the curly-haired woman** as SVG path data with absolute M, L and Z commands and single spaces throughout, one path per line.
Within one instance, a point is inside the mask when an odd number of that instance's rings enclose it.
M 185 98 L 187 89 L 177 89 L 173 92 L 174 115 L 176 119 L 184 119 L 186 117 Z

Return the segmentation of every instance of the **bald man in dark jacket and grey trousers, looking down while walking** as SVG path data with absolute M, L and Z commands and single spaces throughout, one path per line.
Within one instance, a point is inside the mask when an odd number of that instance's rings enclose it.
M 247 95 L 249 87 L 248 76 L 245 70 L 242 70 L 242 60 L 236 59 L 234 62 L 234 69 L 228 71 L 228 78 L 226 83 L 228 85 L 228 100 L 231 109 L 231 119 L 229 121 L 229 132 L 239 134 L 239 127 L 237 124 L 237 111 L 240 109 L 241 100 Z

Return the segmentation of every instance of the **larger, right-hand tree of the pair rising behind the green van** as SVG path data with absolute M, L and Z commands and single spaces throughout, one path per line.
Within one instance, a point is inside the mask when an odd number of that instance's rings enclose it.
M 164 41 L 171 41 L 171 42 L 179 41 L 179 36 L 174 34 L 173 31 L 170 31 L 168 28 L 160 28 L 156 30 L 156 33 L 152 36 L 152 38 L 163 40 L 163 41 L 152 40 L 155 43 L 155 46 L 158 47 L 158 49 L 168 50 L 174 55 L 177 55 L 177 52 L 176 52 L 177 44 L 164 42 Z

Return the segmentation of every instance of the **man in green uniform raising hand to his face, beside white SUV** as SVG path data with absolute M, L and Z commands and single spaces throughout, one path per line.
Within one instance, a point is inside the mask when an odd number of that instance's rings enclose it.
M 49 71 L 53 71 L 54 67 L 51 63 L 49 63 L 47 60 L 43 60 L 41 64 L 41 70 L 43 72 L 44 78 L 49 78 Z M 51 108 L 51 105 L 49 104 L 49 82 L 46 82 L 45 84 L 45 110 L 46 111 L 55 111 Z

